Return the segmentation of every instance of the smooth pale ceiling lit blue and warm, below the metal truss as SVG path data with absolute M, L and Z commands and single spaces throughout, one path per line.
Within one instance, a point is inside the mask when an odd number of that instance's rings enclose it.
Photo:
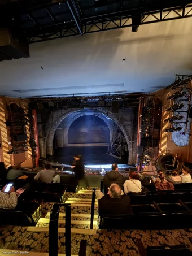
M 30 58 L 0 62 L 12 97 L 153 92 L 192 73 L 192 18 L 30 44 Z M 125 58 L 125 61 L 123 61 Z

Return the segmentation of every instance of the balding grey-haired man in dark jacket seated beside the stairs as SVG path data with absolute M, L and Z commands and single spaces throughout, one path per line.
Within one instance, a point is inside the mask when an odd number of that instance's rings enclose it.
M 99 202 L 99 216 L 108 214 L 129 214 L 132 213 L 130 207 L 130 197 L 121 195 L 121 188 L 118 184 L 111 184 L 108 194 L 97 193 Z

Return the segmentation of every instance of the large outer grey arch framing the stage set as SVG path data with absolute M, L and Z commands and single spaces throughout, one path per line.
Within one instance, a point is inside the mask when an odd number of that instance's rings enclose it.
M 112 114 L 111 111 L 102 109 L 102 108 L 95 108 L 95 109 L 91 109 L 94 112 L 99 112 L 102 113 L 104 115 L 106 115 L 108 118 L 111 118 L 114 123 L 116 123 L 119 128 L 121 129 L 121 131 L 124 134 L 126 143 L 128 144 L 128 150 L 130 152 L 130 144 L 131 144 L 131 139 L 130 139 L 130 134 L 128 132 L 125 131 L 125 128 L 123 127 L 123 125 L 119 122 L 119 120 L 116 118 L 115 115 Z M 48 128 L 47 134 L 46 134 L 46 138 L 45 138 L 45 147 L 46 147 L 46 153 L 47 155 L 53 155 L 54 150 L 53 150 L 53 141 L 54 141 L 54 135 L 55 135 L 55 131 L 58 128 L 59 124 L 70 114 L 74 113 L 74 112 L 78 112 L 80 111 L 79 109 L 75 109 L 75 110 L 71 110 L 68 109 L 65 113 L 63 113 L 58 119 L 55 120 L 55 122 L 53 124 L 50 125 L 50 127 Z M 129 154 L 129 163 L 132 162 L 132 154 Z

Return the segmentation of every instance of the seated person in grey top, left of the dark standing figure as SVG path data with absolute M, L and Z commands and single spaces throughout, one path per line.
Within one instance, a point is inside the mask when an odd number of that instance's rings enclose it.
M 60 176 L 55 175 L 55 171 L 51 169 L 51 166 L 49 163 L 45 164 L 45 169 L 41 170 L 37 173 L 36 176 L 34 176 L 35 181 L 41 181 L 45 183 L 60 183 Z

